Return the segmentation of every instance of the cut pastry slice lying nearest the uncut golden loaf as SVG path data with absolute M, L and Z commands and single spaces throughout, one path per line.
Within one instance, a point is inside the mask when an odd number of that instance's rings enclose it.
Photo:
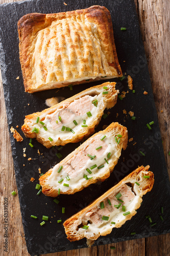
M 42 112 L 26 116 L 22 132 L 47 148 L 78 142 L 94 132 L 105 108 L 117 101 L 115 82 L 91 87 Z

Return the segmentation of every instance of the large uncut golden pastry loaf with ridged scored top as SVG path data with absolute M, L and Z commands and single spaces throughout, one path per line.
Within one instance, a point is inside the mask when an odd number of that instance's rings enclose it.
M 26 92 L 122 76 L 110 12 L 103 6 L 30 13 L 19 19 L 18 34 Z

